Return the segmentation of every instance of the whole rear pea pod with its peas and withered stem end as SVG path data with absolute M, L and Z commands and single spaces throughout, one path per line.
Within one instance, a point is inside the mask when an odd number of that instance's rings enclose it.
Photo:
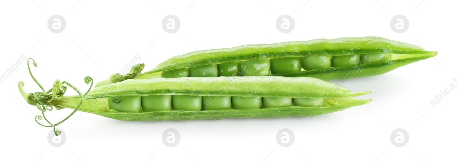
M 174 56 L 151 71 L 133 71 L 131 78 L 272 75 L 348 80 L 384 74 L 437 53 L 374 36 L 290 41 L 194 51 Z M 114 75 L 96 86 L 119 81 L 122 77 Z

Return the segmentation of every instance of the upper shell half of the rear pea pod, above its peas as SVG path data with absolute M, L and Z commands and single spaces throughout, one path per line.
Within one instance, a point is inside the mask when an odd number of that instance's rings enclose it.
M 277 58 L 286 56 L 333 56 L 335 54 L 361 54 L 361 53 L 400 53 L 414 54 L 425 51 L 419 46 L 388 40 L 382 37 L 344 37 L 338 39 L 317 39 L 308 41 L 289 41 L 268 45 L 244 45 L 233 48 L 194 51 L 180 56 L 174 56 L 156 66 L 145 74 L 159 71 L 250 60 L 252 58 Z M 436 52 L 428 52 L 434 54 Z

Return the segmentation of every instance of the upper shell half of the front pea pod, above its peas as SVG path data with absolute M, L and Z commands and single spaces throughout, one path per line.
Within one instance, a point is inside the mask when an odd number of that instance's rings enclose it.
M 277 76 L 220 76 L 129 79 L 97 87 L 87 96 L 191 95 L 292 98 L 341 98 L 370 93 L 349 89 L 316 78 Z

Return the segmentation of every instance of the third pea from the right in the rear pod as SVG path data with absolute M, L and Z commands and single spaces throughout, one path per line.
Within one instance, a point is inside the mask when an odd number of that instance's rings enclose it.
M 332 66 L 332 56 L 305 56 L 302 58 L 304 70 L 328 69 Z

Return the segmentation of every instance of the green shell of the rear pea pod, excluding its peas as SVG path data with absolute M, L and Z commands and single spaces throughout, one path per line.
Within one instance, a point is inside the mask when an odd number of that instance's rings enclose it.
M 376 55 L 376 54 L 402 54 L 395 57 L 396 60 L 383 61 L 383 65 L 369 63 L 364 65 L 369 68 L 374 66 L 377 70 L 371 72 L 358 72 L 349 74 L 357 70 L 360 65 L 330 67 L 328 69 L 309 67 L 314 70 L 294 72 L 294 73 L 277 73 L 273 76 L 289 77 L 316 77 L 323 80 L 338 80 L 348 75 L 351 78 L 375 76 L 392 71 L 400 66 L 420 61 L 437 55 L 436 51 L 425 51 L 419 46 L 407 43 L 388 40 L 381 37 L 345 37 L 338 39 L 318 39 L 308 41 L 291 41 L 269 45 L 245 45 L 226 49 L 214 49 L 205 51 L 195 51 L 181 56 L 175 56 L 167 61 L 162 62 L 151 71 L 143 72 L 139 78 L 153 78 L 155 73 L 160 71 L 192 67 L 208 64 L 220 64 L 234 61 L 248 61 L 256 58 L 279 58 L 279 57 L 305 57 L 305 56 L 340 56 L 340 55 Z M 303 61 L 303 59 L 302 59 Z M 317 64 L 314 62 L 314 64 Z M 391 65 L 396 64 L 396 65 Z M 309 65 L 304 63 L 303 65 Z M 241 69 L 241 68 L 240 68 Z M 303 69 L 307 69 L 304 67 Z

